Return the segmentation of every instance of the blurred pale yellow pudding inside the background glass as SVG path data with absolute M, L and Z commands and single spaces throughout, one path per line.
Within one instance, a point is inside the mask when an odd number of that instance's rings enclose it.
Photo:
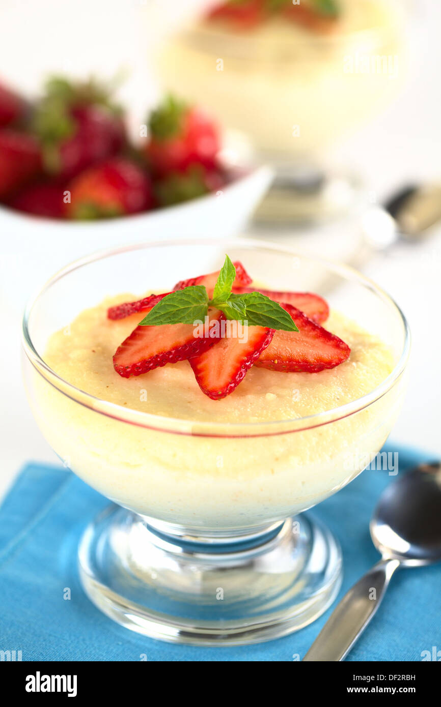
M 389 103 L 404 71 L 392 0 L 338 0 L 332 33 L 274 16 L 246 30 L 201 21 L 166 44 L 164 88 L 207 105 L 280 161 L 321 153 Z

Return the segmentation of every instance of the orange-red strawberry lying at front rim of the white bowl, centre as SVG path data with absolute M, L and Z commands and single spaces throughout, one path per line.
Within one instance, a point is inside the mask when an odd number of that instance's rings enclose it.
M 130 160 L 113 158 L 72 180 L 69 218 L 110 218 L 137 214 L 154 205 L 149 177 Z

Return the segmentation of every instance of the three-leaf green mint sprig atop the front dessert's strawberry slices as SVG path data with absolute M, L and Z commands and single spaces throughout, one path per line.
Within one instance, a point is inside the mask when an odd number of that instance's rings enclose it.
M 139 326 L 160 326 L 164 324 L 194 324 L 203 321 L 209 307 L 224 312 L 229 320 L 236 320 L 251 327 L 283 329 L 285 332 L 298 332 L 292 317 L 278 302 L 260 292 L 236 294 L 231 292 L 236 279 L 236 268 L 225 257 L 212 299 L 203 285 L 192 285 L 166 295 L 155 305 Z

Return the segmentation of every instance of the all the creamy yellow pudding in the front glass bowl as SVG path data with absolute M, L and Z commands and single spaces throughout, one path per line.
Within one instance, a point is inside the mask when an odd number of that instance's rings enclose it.
M 401 386 L 350 416 L 296 424 L 372 392 L 394 367 L 387 346 L 343 315 L 332 312 L 325 327 L 350 345 L 345 363 L 321 373 L 252 368 L 229 397 L 212 401 L 187 361 L 137 378 L 115 373 L 115 349 L 142 316 L 111 321 L 107 308 L 131 299 L 124 294 L 81 312 L 47 343 L 47 366 L 96 397 L 96 409 L 71 399 L 59 381 L 57 390 L 44 370 L 33 373 L 31 400 L 66 464 L 122 506 L 193 530 L 258 527 L 341 488 L 388 436 Z M 120 407 L 103 414 L 99 400 Z M 158 417 L 139 421 L 131 411 Z M 167 425 L 171 418 L 181 421 Z M 230 423 L 250 424 L 236 431 Z

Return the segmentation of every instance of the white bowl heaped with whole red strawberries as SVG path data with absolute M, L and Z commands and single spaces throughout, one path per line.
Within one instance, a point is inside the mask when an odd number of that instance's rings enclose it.
M 53 78 L 30 105 L 0 85 L 0 224 L 6 274 L 146 238 L 235 235 L 269 168 L 222 159 L 219 127 L 168 97 L 131 144 L 120 107 L 94 81 Z

